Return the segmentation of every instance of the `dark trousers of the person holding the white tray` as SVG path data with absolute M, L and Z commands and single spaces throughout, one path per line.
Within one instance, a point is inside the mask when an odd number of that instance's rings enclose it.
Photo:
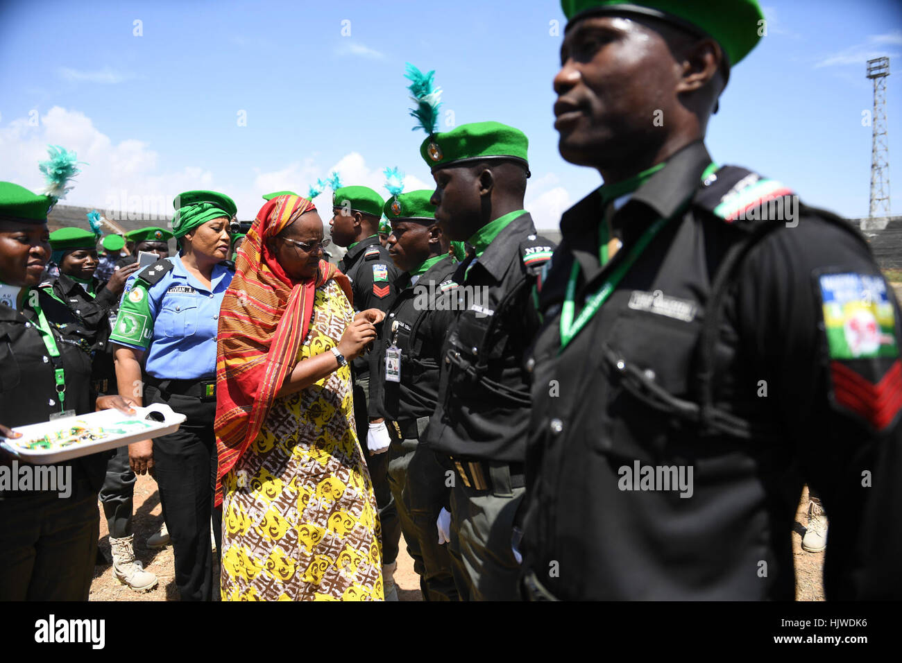
M 0 500 L 0 601 L 87 601 L 99 529 L 87 484 Z

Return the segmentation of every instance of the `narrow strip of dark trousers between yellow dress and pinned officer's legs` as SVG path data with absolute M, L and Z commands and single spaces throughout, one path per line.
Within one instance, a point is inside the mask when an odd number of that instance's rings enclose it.
M 376 493 L 376 506 L 379 508 L 379 522 L 382 526 L 382 564 L 391 564 L 398 558 L 400 519 L 389 483 L 389 452 L 373 456 L 366 447 L 366 435 L 370 431 L 370 419 L 367 415 L 369 395 L 370 376 L 367 374 L 354 380 L 354 424 L 366 467 L 373 481 L 373 492 Z

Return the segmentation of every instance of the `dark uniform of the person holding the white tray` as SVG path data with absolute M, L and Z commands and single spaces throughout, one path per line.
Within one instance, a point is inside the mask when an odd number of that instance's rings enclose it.
M 27 302 L 26 302 L 27 303 Z M 65 374 L 66 410 L 95 410 L 91 356 L 69 308 L 38 290 Z M 47 421 L 60 413 L 54 364 L 30 308 L 0 304 L 0 422 L 7 427 Z M 71 494 L 0 492 L 0 601 L 87 601 L 97 555 L 97 491 L 108 452 L 69 463 Z M 11 468 L 0 452 L 0 465 Z M 15 461 L 23 465 L 21 461 Z M 59 476 L 59 474 L 57 474 Z

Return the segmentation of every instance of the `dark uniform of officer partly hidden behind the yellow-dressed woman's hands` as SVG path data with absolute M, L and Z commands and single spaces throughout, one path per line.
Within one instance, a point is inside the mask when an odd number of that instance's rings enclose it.
M 378 235 L 354 244 L 354 248 L 349 249 L 338 262 L 338 269 L 351 280 L 354 310 L 378 308 L 387 311 L 398 296 L 395 281 L 403 272 L 391 261 L 388 249 L 379 244 Z M 382 279 L 383 273 L 385 281 L 376 281 L 377 278 Z M 366 448 L 366 435 L 370 430 L 367 417 L 370 398 L 369 358 L 366 355 L 359 356 L 351 362 L 351 367 L 354 371 L 354 422 L 357 425 L 360 447 L 364 450 L 366 466 L 373 479 L 373 492 L 382 524 L 382 563 L 391 564 L 398 557 L 400 520 L 388 483 L 388 453 L 373 456 Z

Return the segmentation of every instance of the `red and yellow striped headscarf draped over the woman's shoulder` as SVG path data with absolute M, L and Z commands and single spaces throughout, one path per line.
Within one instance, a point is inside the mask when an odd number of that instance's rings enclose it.
M 276 392 L 297 364 L 316 289 L 335 279 L 352 300 L 351 283 L 335 265 L 322 260 L 316 278 L 291 281 L 266 244 L 313 210 L 299 196 L 267 200 L 238 249 L 216 337 L 216 505 L 222 503 L 223 476 L 260 433 Z

